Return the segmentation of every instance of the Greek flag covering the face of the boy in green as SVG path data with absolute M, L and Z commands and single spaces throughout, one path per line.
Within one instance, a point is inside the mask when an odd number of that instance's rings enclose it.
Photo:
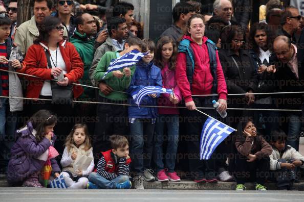
M 123 69 L 125 67 L 131 67 L 135 65 L 142 57 L 146 56 L 147 53 L 141 53 L 138 50 L 134 49 L 129 53 L 126 53 L 116 59 L 113 59 L 110 62 L 110 65 L 107 67 L 107 71 L 103 75 L 103 78 L 105 78 L 106 74 L 110 73 L 111 71 L 116 71 L 119 69 Z

